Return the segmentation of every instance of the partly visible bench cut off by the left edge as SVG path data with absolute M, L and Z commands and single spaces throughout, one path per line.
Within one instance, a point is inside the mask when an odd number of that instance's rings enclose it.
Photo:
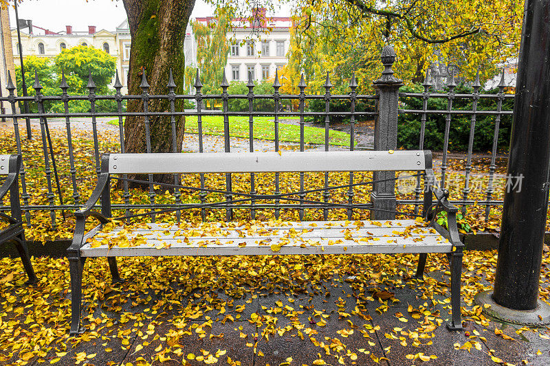
M 0 220 L 8 224 L 0 231 L 0 243 L 13 242 L 23 267 L 29 277 L 25 284 L 34 284 L 37 279 L 30 262 L 25 242 L 25 228 L 21 216 L 21 203 L 19 202 L 19 169 L 21 168 L 21 155 L 0 155 L 0 175 L 7 175 L 0 187 L 0 200 L 10 192 L 11 216 L 0 212 Z

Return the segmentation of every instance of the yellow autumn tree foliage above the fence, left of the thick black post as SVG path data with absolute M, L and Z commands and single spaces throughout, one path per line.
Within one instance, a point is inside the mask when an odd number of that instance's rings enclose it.
M 432 62 L 458 65 L 461 76 L 492 78 L 518 54 L 522 1 L 498 0 L 321 0 L 293 16 L 285 91 L 298 92 L 300 71 L 311 91 L 325 82 L 346 88 L 356 73 L 360 92 L 382 71 L 380 49 L 391 44 L 394 71 L 406 82 L 423 80 Z

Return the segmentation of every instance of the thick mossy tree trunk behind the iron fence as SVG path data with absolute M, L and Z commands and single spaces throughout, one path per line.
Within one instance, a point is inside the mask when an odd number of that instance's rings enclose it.
M 184 39 L 186 26 L 195 0 L 123 0 L 132 37 L 128 73 L 129 95 L 142 95 L 142 74 L 146 72 L 148 93 L 166 95 L 168 74 L 173 71 L 176 94 L 184 93 Z M 175 111 L 183 110 L 183 102 L 175 102 Z M 129 112 L 143 112 L 142 100 L 129 100 Z M 167 99 L 149 99 L 148 111 L 170 111 Z M 170 117 L 151 116 L 151 152 L 181 152 L 185 117 L 176 117 L 176 146 L 173 147 Z M 145 118 L 128 116 L 124 121 L 126 152 L 146 152 Z M 155 181 L 173 183 L 173 175 L 155 176 Z

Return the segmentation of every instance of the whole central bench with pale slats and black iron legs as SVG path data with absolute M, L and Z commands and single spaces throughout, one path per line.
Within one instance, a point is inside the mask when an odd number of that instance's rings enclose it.
M 124 235 L 124 245 L 107 246 L 120 227 L 102 232 L 111 218 L 111 174 L 176 174 L 236 172 L 368 172 L 419 171 L 426 187 L 423 215 L 430 227 L 420 227 L 415 220 L 364 220 L 345 225 L 342 221 L 277 222 L 261 232 L 242 227 L 204 223 L 195 230 L 177 225 L 142 225 Z M 450 330 L 461 330 L 460 278 L 463 244 L 456 227 L 458 209 L 448 202 L 448 192 L 434 186 L 430 151 L 363 152 L 248 152 L 206 154 L 111 154 L 103 155 L 98 184 L 87 203 L 76 211 L 74 240 L 68 249 L 72 289 L 71 334 L 80 331 L 83 265 L 86 258 L 107 257 L 113 281 L 120 281 L 116 257 L 161 255 L 285 255 L 285 254 L 366 254 L 420 253 L 417 277 L 423 277 L 427 253 L 448 253 L 451 271 L 452 319 Z M 427 192 L 427 193 L 426 193 Z M 432 193 L 437 203 L 432 201 Z M 270 199 L 281 196 L 262 196 Z M 93 211 L 101 200 L 101 213 Z M 223 205 L 218 206 L 223 208 Z M 445 229 L 432 220 L 437 211 L 448 212 Z M 101 224 L 85 232 L 88 216 Z M 200 225 L 199 225 L 200 226 Z M 344 235 L 343 227 L 349 229 Z M 237 231 L 238 229 L 241 229 Z M 203 231 L 199 233 L 199 231 Z M 300 235 L 296 233 L 300 232 Z M 137 234 L 141 234 L 137 236 Z M 118 238 L 120 238 L 119 236 Z M 107 240 L 104 240 L 107 238 Z M 140 240 L 135 240 L 140 238 Z M 361 240 L 363 239 L 363 240 Z M 103 244 L 100 242 L 103 240 Z

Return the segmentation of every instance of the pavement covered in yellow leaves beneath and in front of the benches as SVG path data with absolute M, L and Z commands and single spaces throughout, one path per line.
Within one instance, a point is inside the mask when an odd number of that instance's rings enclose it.
M 83 323 L 69 338 L 65 258 L 35 258 L 40 279 L 22 286 L 21 262 L 0 263 L 3 365 L 545 365 L 549 330 L 485 319 L 474 295 L 493 281 L 494 251 L 467 251 L 466 332 L 448 332 L 448 264 L 414 255 L 104 258 L 85 264 Z M 540 298 L 550 297 L 544 253 Z M 525 363 L 522 363 L 525 360 Z M 502 361 L 502 362 L 501 362 Z

